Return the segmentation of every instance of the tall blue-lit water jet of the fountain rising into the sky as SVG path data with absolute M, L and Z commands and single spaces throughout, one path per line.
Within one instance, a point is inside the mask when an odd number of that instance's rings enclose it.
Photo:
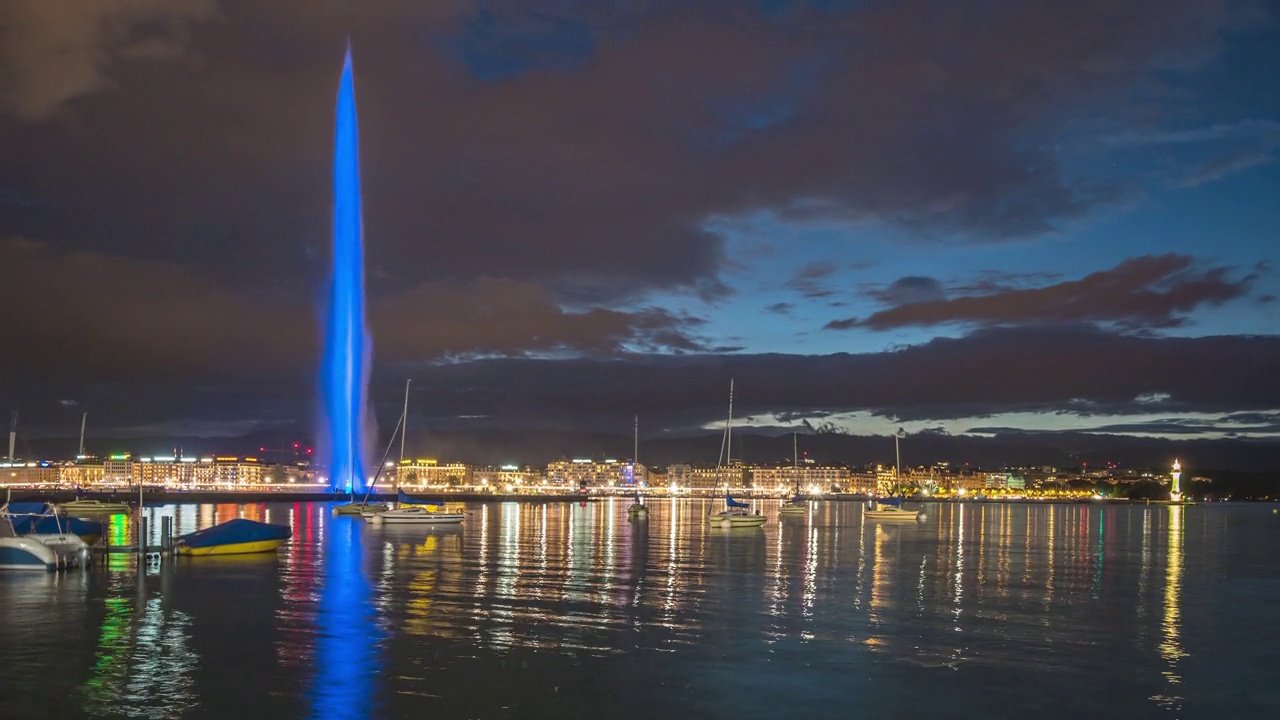
M 338 87 L 337 126 L 333 158 L 333 277 L 320 366 L 320 393 L 325 411 L 323 447 L 329 452 L 333 489 L 360 492 L 365 486 L 361 459 L 371 342 L 365 329 L 360 132 L 356 127 L 356 88 L 349 46 Z

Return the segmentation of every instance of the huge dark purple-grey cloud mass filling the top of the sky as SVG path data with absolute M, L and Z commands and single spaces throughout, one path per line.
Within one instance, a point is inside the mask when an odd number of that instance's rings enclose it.
M 1206 63 L 1235 10 L 93 0 L 8 13 L 17 90 L 0 177 L 26 200 L 0 233 L 305 295 L 325 255 L 351 35 L 378 291 L 495 277 L 598 302 L 723 292 L 723 241 L 703 229 L 716 217 L 870 218 L 983 241 L 1051 231 L 1111 193 L 1065 177 L 1044 150 L 1053 133 L 1152 73 Z

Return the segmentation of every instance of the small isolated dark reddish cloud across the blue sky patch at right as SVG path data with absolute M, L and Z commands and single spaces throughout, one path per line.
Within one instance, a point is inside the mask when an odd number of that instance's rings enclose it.
M 992 295 L 924 300 L 897 305 L 865 319 L 836 320 L 827 329 L 884 331 L 909 325 L 1114 323 L 1125 328 L 1169 328 L 1202 305 L 1221 305 L 1248 293 L 1252 279 L 1231 278 L 1231 268 L 1194 268 L 1188 255 L 1130 258 L 1079 281 L 1007 290 Z M 887 299 L 883 296 L 882 299 Z

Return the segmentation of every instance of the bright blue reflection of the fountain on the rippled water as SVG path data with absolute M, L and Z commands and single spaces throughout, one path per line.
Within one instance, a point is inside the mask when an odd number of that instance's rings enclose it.
M 372 691 L 381 632 L 374 616 L 372 587 L 360 562 L 362 529 L 362 523 L 339 520 L 324 533 L 311 717 L 378 716 Z

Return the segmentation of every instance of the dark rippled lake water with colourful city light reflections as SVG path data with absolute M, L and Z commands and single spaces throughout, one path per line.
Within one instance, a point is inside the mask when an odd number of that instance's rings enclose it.
M 627 503 L 150 510 L 296 534 L 141 583 L 0 575 L 0 717 L 1280 717 L 1270 505 L 767 503 L 726 532 Z

